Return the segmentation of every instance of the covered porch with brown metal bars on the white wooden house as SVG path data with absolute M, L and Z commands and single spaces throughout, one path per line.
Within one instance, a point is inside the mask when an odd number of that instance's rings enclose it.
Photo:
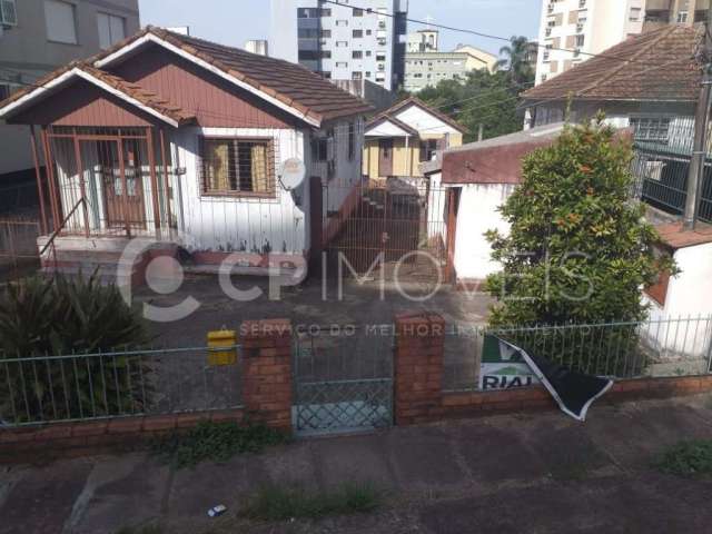
M 46 126 L 39 145 L 47 186 L 38 180 L 42 233 L 155 237 L 177 228 L 167 132 L 156 126 Z M 39 158 L 36 158 L 40 175 Z

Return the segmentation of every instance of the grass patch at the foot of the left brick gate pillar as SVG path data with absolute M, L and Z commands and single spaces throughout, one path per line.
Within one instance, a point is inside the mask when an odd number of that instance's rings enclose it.
M 227 462 L 236 454 L 259 453 L 289 441 L 284 433 L 263 424 L 201 422 L 187 433 L 174 433 L 154 443 L 152 451 L 174 467 L 195 467 L 200 462 Z

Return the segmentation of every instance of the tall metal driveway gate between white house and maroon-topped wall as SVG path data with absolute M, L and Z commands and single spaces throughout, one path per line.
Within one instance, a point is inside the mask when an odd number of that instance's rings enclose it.
M 327 206 L 334 197 L 345 199 L 326 211 L 323 243 L 332 266 L 348 263 L 356 274 L 374 276 L 383 268 L 386 278 L 447 273 L 447 189 L 419 177 L 392 177 L 348 192 L 328 185 L 324 197 Z

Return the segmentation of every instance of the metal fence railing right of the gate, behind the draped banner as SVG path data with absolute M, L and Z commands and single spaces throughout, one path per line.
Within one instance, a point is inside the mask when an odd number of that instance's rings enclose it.
M 571 369 L 619 379 L 712 372 L 712 317 L 501 329 L 455 325 L 445 338 L 445 389 L 479 387 L 488 334 Z

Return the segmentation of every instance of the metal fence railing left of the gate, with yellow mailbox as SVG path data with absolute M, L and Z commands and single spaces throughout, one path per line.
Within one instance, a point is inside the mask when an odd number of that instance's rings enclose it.
M 238 349 L 0 355 L 0 427 L 239 407 Z

